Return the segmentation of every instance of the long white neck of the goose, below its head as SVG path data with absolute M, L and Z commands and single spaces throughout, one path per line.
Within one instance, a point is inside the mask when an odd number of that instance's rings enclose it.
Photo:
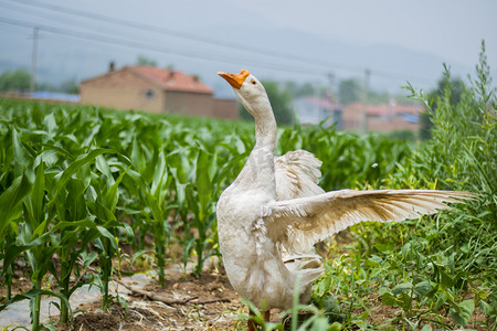
M 271 104 L 253 111 L 255 119 L 255 146 L 236 178 L 236 184 L 247 190 L 263 190 L 269 195 L 276 195 L 274 177 L 274 150 L 277 141 L 276 119 Z

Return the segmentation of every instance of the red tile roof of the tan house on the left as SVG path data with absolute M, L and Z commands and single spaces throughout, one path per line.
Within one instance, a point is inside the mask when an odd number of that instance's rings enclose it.
M 165 90 L 183 90 L 213 94 L 214 92 L 197 77 L 180 71 L 158 68 L 154 66 L 125 66 L 136 75 L 149 81 Z

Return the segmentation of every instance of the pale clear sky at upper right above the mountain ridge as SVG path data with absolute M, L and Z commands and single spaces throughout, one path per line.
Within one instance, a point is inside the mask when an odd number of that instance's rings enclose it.
M 495 0 L 251 0 L 237 4 L 281 26 L 352 43 L 398 44 L 474 65 L 482 39 L 497 64 Z

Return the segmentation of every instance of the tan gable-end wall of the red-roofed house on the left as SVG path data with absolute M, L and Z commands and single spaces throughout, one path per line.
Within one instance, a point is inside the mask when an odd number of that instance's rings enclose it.
M 165 95 L 152 84 L 128 71 L 82 82 L 81 103 L 115 109 L 136 109 L 161 113 Z

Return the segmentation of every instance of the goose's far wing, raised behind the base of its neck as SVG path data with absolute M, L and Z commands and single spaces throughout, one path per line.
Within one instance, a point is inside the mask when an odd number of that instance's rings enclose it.
M 274 159 L 276 200 L 290 200 L 325 193 L 317 185 L 321 161 L 310 152 L 295 150 Z

